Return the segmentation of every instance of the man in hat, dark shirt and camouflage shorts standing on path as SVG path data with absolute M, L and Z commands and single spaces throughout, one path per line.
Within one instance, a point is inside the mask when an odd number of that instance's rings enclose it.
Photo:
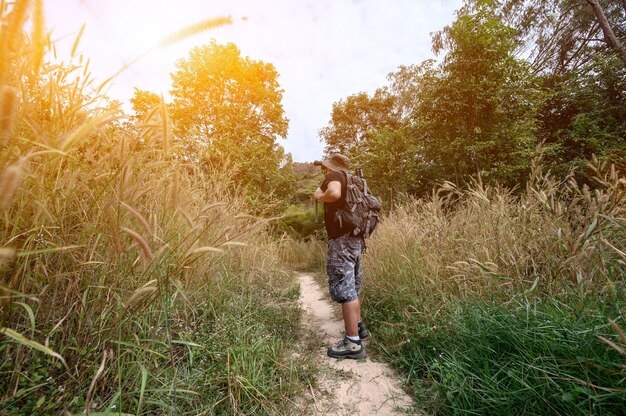
M 351 229 L 342 228 L 338 211 L 345 207 L 347 178 L 350 161 L 335 153 L 324 160 L 316 160 L 321 166 L 324 181 L 313 193 L 318 201 L 324 202 L 324 225 L 328 233 L 326 273 L 330 297 L 341 303 L 341 312 L 346 335 L 336 346 L 328 349 L 334 358 L 364 358 L 365 347 L 361 340 L 369 335 L 361 319 L 359 293 L 363 279 L 363 237 L 354 236 Z

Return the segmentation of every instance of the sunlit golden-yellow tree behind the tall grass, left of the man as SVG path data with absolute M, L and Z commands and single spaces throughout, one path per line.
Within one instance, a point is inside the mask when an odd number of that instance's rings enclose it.
M 228 166 L 259 206 L 290 192 L 290 161 L 276 143 L 288 120 L 274 66 L 212 41 L 176 68 L 171 114 L 177 137 L 199 152 L 193 157 L 207 167 Z

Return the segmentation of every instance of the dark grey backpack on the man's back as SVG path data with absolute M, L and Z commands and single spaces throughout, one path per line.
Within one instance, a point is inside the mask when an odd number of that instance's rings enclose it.
M 351 235 L 368 238 L 378 226 L 382 205 L 370 192 L 365 178 L 360 175 L 346 176 L 346 203 L 337 210 L 339 228 L 351 230 Z

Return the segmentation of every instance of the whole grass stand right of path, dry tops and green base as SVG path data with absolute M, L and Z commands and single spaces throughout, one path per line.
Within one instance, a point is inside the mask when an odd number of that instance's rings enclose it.
M 539 161 L 517 195 L 448 183 L 381 224 L 364 316 L 431 412 L 626 408 L 626 179 L 589 169 L 593 189 Z

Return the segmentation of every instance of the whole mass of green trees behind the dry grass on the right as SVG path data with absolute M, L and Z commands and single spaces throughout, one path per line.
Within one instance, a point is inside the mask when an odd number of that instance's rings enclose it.
M 384 106 L 364 93 L 333 106 L 326 152 L 347 152 L 392 198 L 475 175 L 514 187 L 540 142 L 559 173 L 592 155 L 623 160 L 624 11 L 623 1 L 466 0 L 433 36 L 439 63 L 389 74 Z

